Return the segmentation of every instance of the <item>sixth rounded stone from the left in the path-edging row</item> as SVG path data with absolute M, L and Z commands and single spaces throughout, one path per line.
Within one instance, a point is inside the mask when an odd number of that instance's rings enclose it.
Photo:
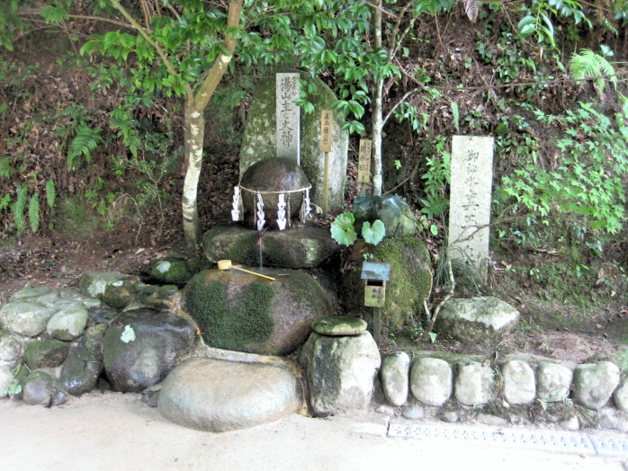
M 588 409 L 606 405 L 619 385 L 620 371 L 615 363 L 583 363 L 573 373 L 573 400 Z

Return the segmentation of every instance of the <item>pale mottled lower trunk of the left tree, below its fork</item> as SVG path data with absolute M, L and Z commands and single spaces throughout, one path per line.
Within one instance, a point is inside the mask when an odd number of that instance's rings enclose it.
M 202 142 L 205 131 L 205 118 L 202 111 L 196 111 L 193 103 L 185 103 L 185 172 L 182 206 L 184 213 L 184 235 L 187 244 L 196 247 L 200 241 L 199 211 L 197 191 L 202 168 Z

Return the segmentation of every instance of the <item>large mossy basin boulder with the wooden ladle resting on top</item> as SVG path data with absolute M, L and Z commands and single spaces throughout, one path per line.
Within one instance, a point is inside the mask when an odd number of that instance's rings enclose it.
M 266 270 L 274 281 L 207 270 L 185 287 L 184 308 L 212 347 L 283 355 L 307 339 L 311 324 L 333 314 L 331 299 L 302 271 Z

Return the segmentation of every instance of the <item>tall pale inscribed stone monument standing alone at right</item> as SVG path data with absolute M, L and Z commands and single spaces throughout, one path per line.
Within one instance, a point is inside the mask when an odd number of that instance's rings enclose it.
M 453 136 L 449 253 L 453 259 L 471 262 L 484 281 L 492 182 L 493 138 Z

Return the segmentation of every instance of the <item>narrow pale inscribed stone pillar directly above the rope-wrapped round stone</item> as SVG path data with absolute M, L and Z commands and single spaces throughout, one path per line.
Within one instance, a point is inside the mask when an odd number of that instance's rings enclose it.
M 299 74 L 277 74 L 276 81 L 277 156 L 296 159 L 301 164 L 300 109 L 294 104 L 300 96 Z

